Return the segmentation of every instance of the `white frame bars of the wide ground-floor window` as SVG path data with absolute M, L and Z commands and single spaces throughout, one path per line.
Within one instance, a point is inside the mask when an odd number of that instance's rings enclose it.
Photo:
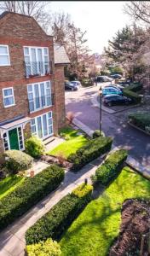
M 51 125 L 49 125 L 49 113 L 51 113 L 51 119 L 52 119 L 52 124 L 51 124 Z M 35 120 L 36 132 L 32 133 L 32 135 L 38 136 L 38 117 L 41 117 L 41 119 L 42 119 L 41 124 L 42 124 L 42 133 L 43 133 L 43 115 L 45 115 L 45 114 L 46 114 L 46 119 L 47 119 L 47 131 L 48 131 L 48 135 L 41 137 L 41 139 L 45 139 L 45 138 L 47 138 L 47 137 L 50 137 L 50 136 L 53 136 L 53 135 L 54 135 L 54 132 L 53 132 L 53 112 L 52 112 L 52 111 L 49 111 L 49 112 L 40 114 L 40 115 L 38 115 L 38 116 L 36 116 L 36 117 L 33 118 L 33 119 Z M 33 126 L 33 125 L 32 125 L 32 121 L 31 121 L 31 129 L 32 129 L 32 126 Z M 52 133 L 51 133 L 51 134 L 49 134 L 49 126 L 52 127 Z

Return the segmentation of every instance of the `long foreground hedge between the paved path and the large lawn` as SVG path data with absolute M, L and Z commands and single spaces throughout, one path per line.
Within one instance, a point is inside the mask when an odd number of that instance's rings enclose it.
M 49 237 L 53 240 L 60 239 L 62 233 L 91 200 L 92 189 L 91 185 L 84 183 L 71 194 L 64 196 L 26 231 L 26 244 L 46 241 Z

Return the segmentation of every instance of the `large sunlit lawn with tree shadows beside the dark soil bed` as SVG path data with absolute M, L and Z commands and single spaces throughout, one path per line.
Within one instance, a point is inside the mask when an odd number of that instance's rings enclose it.
M 125 199 L 149 197 L 150 182 L 124 167 L 102 196 L 91 201 L 62 237 L 62 256 L 107 256 L 118 236 Z

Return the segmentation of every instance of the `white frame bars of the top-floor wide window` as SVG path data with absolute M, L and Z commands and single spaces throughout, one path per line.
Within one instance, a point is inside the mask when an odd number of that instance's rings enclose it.
M 45 66 L 46 66 L 46 65 L 49 65 L 49 47 L 44 47 L 44 46 L 43 46 L 43 47 L 38 47 L 38 46 L 24 46 L 23 48 L 24 48 L 24 58 L 25 58 L 26 56 L 28 56 L 29 59 L 30 59 L 30 64 L 26 64 L 26 66 L 30 66 L 30 67 L 31 67 L 31 75 L 34 75 L 33 70 L 32 70 L 32 50 L 31 50 L 31 49 L 35 49 L 35 50 L 36 50 L 36 51 L 35 51 L 35 52 L 36 52 L 36 62 L 40 62 L 40 61 L 38 60 L 38 49 L 42 49 L 43 73 L 40 73 L 39 71 L 38 71 L 38 72 L 39 72 L 40 76 L 44 76 L 45 73 L 46 73 Z M 29 54 L 28 54 L 28 55 L 25 54 L 25 48 L 28 48 L 28 51 L 29 51 Z M 47 49 L 47 52 L 48 52 L 47 55 L 44 54 L 44 49 Z M 48 56 L 48 63 L 44 61 L 44 56 Z M 26 63 L 26 61 L 25 61 L 25 63 Z M 49 67 L 49 72 L 50 72 L 50 67 Z M 28 76 L 27 76 L 27 78 L 28 78 Z

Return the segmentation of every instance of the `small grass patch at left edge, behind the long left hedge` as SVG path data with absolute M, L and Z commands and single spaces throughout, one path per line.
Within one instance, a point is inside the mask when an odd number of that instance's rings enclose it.
M 2 199 L 3 196 L 8 195 L 9 192 L 13 191 L 24 180 L 25 177 L 20 177 L 13 174 L 3 178 L 3 180 L 0 181 L 0 199 Z

